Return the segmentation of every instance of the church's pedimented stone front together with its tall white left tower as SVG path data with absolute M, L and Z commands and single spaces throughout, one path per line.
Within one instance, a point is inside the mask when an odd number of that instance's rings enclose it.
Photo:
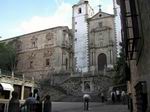
M 94 15 L 88 0 L 80 0 L 73 6 L 72 18 L 76 70 L 112 69 L 117 55 L 115 16 L 101 9 Z

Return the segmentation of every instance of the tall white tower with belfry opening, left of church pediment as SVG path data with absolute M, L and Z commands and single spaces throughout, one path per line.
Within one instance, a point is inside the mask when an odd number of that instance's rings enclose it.
M 90 7 L 88 0 L 80 0 L 72 9 L 76 71 L 87 72 L 89 68 L 88 18 L 94 15 L 94 11 Z

